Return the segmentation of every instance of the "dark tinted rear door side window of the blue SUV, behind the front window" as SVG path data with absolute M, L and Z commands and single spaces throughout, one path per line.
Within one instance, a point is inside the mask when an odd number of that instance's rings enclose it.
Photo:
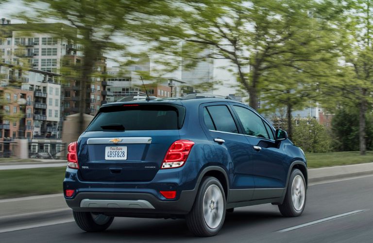
M 231 112 L 225 105 L 214 105 L 207 107 L 217 131 L 238 133 L 237 126 Z

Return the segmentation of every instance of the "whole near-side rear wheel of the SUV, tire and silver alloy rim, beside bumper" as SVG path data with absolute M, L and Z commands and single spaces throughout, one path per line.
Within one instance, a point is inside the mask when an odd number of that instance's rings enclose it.
M 193 208 L 186 215 L 186 224 L 197 236 L 214 236 L 224 224 L 225 210 L 225 194 L 219 180 L 205 177 Z

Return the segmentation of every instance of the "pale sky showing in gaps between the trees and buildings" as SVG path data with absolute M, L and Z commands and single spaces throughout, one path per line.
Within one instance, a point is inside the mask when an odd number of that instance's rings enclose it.
M 0 18 L 7 18 L 12 21 L 12 23 L 23 23 L 21 20 L 12 17 L 17 11 L 22 9 L 22 4 L 20 0 L 10 0 L 7 3 L 0 5 Z M 31 10 L 32 11 L 32 10 Z M 51 21 L 52 22 L 52 21 Z M 110 61 L 110 56 L 108 57 L 107 67 L 116 66 L 117 64 Z M 235 88 L 231 86 L 236 85 L 236 78 L 228 71 L 229 61 L 228 60 L 214 60 L 214 79 L 222 82 L 217 90 L 214 90 L 214 94 L 228 95 L 234 94 L 236 92 Z M 176 77 L 181 79 L 181 70 L 175 71 L 170 74 L 166 74 L 167 77 Z

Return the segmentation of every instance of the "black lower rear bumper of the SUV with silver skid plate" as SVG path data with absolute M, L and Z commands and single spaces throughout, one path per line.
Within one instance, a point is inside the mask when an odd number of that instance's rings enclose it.
M 162 201 L 151 193 L 79 192 L 72 199 L 66 198 L 66 203 L 74 211 L 101 212 L 121 217 L 164 218 L 187 214 L 196 194 L 196 189 L 182 191 L 178 200 Z

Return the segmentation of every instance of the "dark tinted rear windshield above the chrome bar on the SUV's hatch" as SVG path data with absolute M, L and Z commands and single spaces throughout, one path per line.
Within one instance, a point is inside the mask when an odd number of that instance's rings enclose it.
M 183 125 L 185 116 L 183 106 L 128 105 L 102 107 L 86 131 L 175 130 Z

